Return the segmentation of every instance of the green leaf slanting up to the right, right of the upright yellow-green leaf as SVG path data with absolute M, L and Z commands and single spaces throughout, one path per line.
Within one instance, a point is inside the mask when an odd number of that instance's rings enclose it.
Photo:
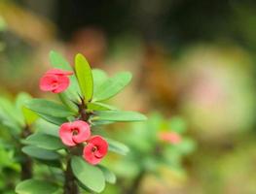
M 131 78 L 130 73 L 121 72 L 107 81 L 104 81 L 95 91 L 93 101 L 103 101 L 115 96 L 128 85 Z

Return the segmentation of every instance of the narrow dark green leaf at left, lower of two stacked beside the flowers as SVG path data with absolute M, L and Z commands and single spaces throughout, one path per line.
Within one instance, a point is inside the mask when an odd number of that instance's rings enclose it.
M 23 146 L 21 150 L 25 154 L 41 160 L 56 160 L 60 157 L 60 155 L 55 151 L 37 146 Z

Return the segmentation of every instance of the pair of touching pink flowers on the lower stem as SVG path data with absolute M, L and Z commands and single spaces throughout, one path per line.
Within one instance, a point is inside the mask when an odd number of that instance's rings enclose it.
M 85 121 L 77 120 L 63 123 L 59 129 L 59 136 L 66 146 L 86 143 L 83 157 L 92 165 L 98 164 L 107 154 L 107 142 L 100 136 L 91 136 L 90 125 Z

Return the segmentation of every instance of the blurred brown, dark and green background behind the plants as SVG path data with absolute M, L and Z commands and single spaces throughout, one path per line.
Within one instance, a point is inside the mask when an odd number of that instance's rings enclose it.
M 254 194 L 255 11 L 253 0 L 0 0 L 0 95 L 52 97 L 38 89 L 51 49 L 128 70 L 113 104 L 182 116 L 197 142 L 184 175 L 146 176 L 140 193 Z

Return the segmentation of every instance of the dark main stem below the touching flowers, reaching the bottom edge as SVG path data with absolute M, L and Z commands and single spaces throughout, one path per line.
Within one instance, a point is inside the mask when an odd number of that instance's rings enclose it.
M 71 160 L 68 159 L 65 171 L 64 194 L 78 194 L 78 186 L 71 169 Z

